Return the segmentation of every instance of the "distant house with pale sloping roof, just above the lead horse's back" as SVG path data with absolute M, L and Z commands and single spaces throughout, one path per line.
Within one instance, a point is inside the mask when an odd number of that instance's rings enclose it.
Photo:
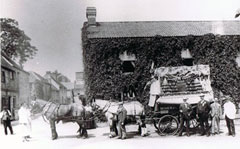
M 47 72 L 44 78 L 51 84 L 51 101 L 57 103 L 66 103 L 67 100 L 67 88 L 57 81 L 51 73 Z

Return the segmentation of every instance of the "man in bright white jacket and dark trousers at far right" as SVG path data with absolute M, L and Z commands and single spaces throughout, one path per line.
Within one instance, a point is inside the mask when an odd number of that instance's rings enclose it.
M 236 114 L 236 107 L 231 101 L 230 97 L 227 98 L 226 103 L 223 106 L 224 108 L 224 116 L 226 120 L 226 124 L 228 127 L 228 135 L 232 135 L 233 137 L 235 136 L 235 126 L 234 126 L 234 119 L 235 119 L 235 114 Z

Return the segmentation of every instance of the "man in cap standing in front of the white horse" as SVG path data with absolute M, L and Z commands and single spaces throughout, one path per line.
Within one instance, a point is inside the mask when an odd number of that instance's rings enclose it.
M 123 107 L 123 102 L 120 103 L 117 110 L 117 118 L 118 118 L 118 139 L 126 139 L 126 128 L 125 128 L 125 120 L 127 117 L 127 110 Z

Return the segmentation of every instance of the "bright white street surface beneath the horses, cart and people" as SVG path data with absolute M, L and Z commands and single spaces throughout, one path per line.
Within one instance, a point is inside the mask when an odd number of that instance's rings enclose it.
M 97 129 L 88 130 L 89 138 L 77 138 L 78 126 L 75 123 L 57 124 L 59 138 L 51 140 L 50 126 L 42 120 L 41 117 L 32 121 L 32 138 L 29 142 L 22 142 L 21 127 L 14 122 L 14 135 L 5 136 L 3 134 L 3 125 L 0 126 L 1 148 L 34 148 L 34 149 L 146 149 L 146 148 L 184 148 L 184 149 L 202 149 L 202 148 L 236 148 L 240 145 L 240 120 L 235 120 L 236 136 L 227 136 L 227 127 L 225 120 L 221 120 L 221 134 L 215 136 L 199 136 L 198 134 L 187 137 L 178 136 L 159 136 L 155 132 L 153 125 L 148 125 L 149 136 L 141 137 L 137 135 L 137 125 L 127 125 L 128 138 L 118 140 L 108 138 L 109 128 L 105 123 L 98 124 Z

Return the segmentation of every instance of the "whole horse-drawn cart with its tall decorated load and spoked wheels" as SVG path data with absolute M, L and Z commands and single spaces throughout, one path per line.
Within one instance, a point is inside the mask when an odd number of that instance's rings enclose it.
M 180 128 L 179 106 L 183 98 L 193 107 L 190 129 L 197 131 L 199 122 L 196 118 L 196 107 L 200 95 L 213 99 L 208 65 L 160 67 L 154 72 L 158 75 L 161 94 L 155 102 L 155 110 L 150 119 L 160 135 L 175 135 Z

